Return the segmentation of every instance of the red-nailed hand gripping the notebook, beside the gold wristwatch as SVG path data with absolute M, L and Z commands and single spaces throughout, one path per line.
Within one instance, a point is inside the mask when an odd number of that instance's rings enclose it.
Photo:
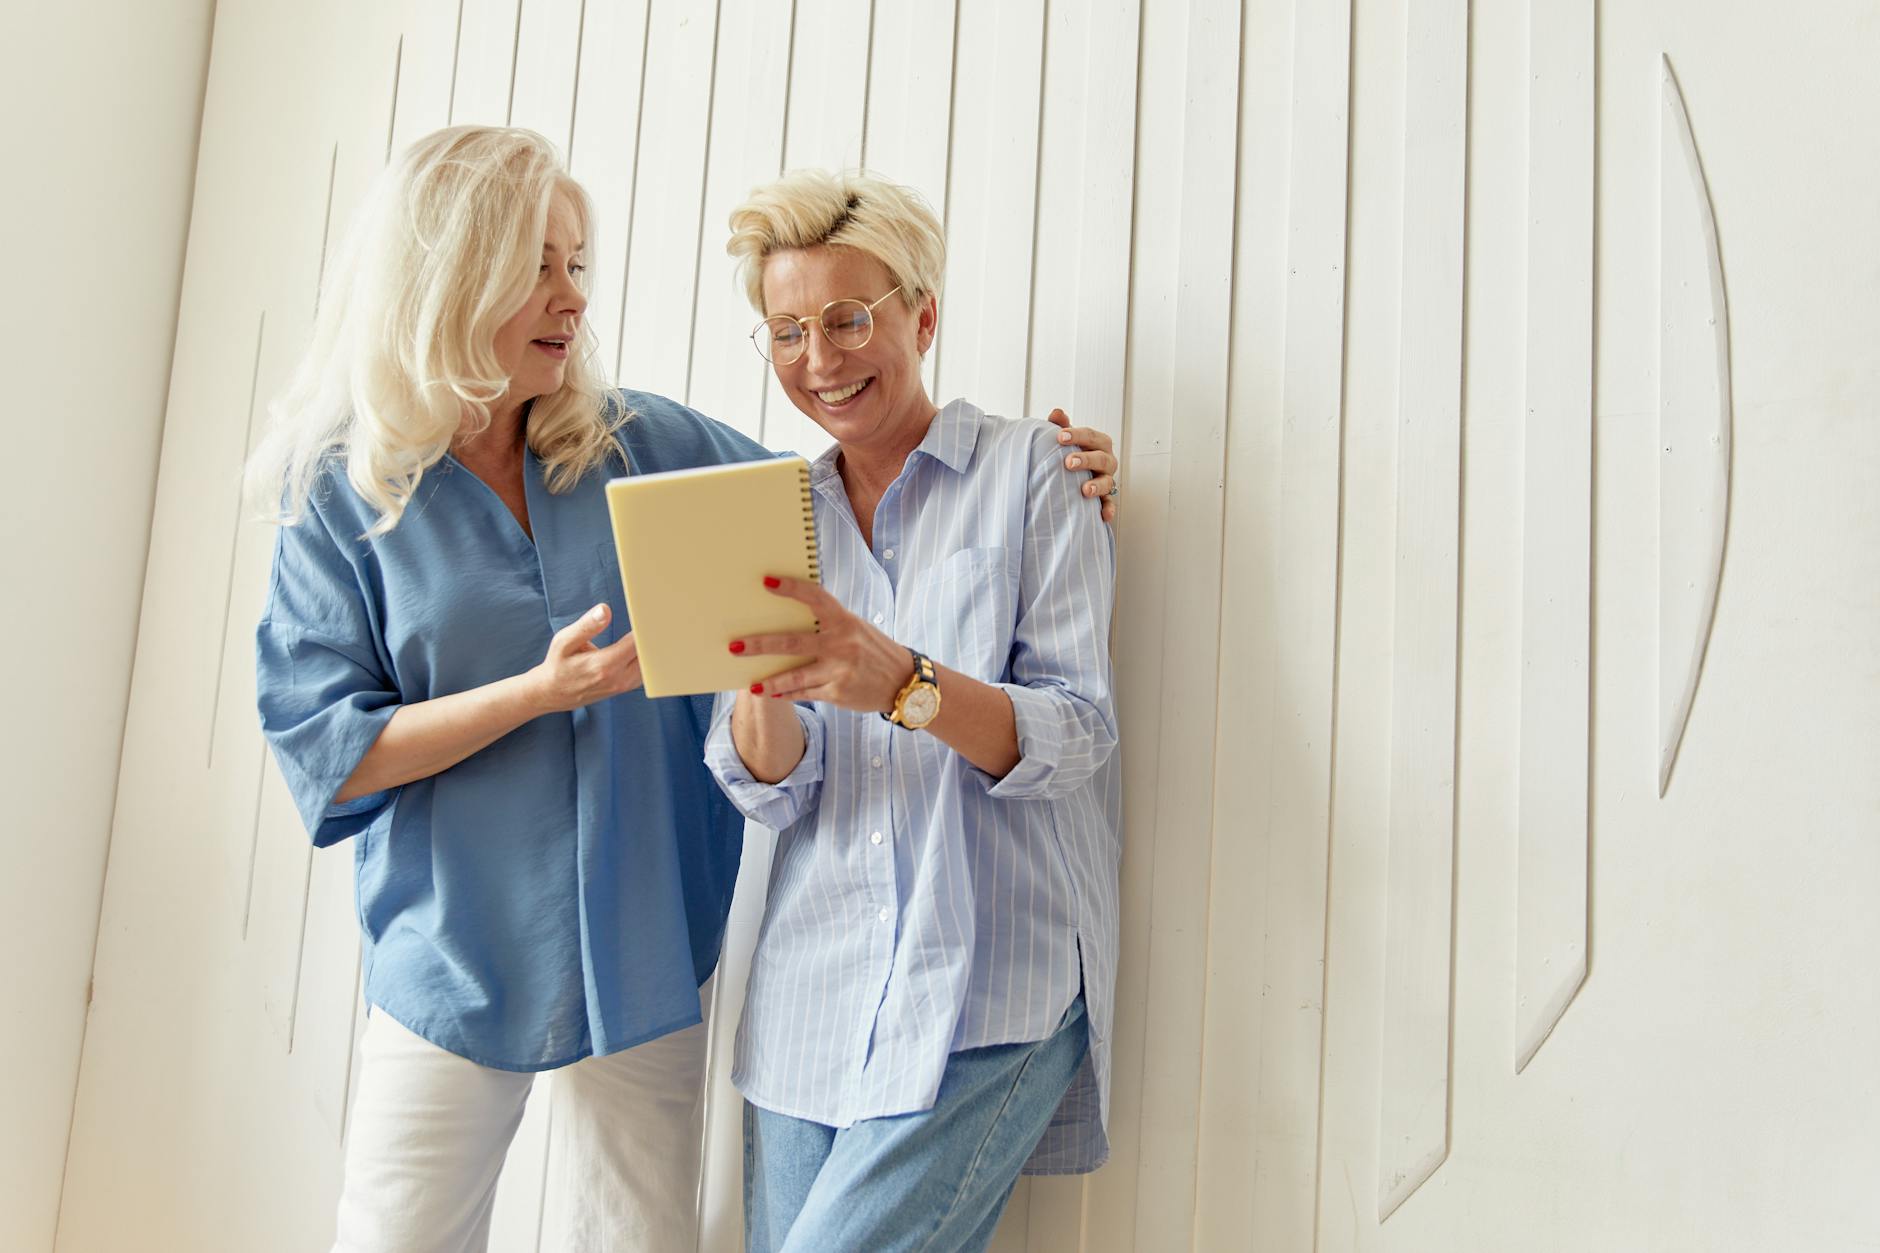
M 820 583 L 767 578 L 763 585 L 775 596 L 790 596 L 814 610 L 818 628 L 731 642 L 731 651 L 743 657 L 810 658 L 795 670 L 754 683 L 754 694 L 823 700 L 865 713 L 887 713 L 895 707 L 895 696 L 914 675 L 914 657 L 906 647 L 844 610 Z

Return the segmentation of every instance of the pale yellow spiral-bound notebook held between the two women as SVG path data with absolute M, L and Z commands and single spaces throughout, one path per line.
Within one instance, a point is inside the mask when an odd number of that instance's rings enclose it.
M 626 613 L 647 696 L 750 687 L 805 657 L 735 657 L 731 640 L 816 630 L 765 574 L 820 581 L 803 457 L 634 474 L 607 484 Z

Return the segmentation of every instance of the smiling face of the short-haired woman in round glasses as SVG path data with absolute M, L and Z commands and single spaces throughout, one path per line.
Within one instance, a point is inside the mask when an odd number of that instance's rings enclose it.
M 855 248 L 786 248 L 763 262 L 765 312 L 812 318 L 803 356 L 776 365 L 776 382 L 844 452 L 906 455 L 934 416 L 921 382 L 921 356 L 938 324 L 932 295 L 917 309 L 901 295 L 876 305 L 874 335 L 861 348 L 837 348 L 814 322 L 829 301 L 869 303 L 893 286 L 887 267 Z

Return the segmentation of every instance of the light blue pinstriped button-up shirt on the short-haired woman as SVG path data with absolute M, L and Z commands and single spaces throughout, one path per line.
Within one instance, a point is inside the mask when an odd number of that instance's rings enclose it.
M 835 459 L 810 470 L 823 585 L 1000 685 L 1021 758 L 993 779 L 925 732 L 801 704 L 803 760 L 769 786 L 720 702 L 707 764 L 780 832 L 731 1080 L 831 1127 L 929 1110 L 948 1054 L 1049 1037 L 1081 986 L 1090 1054 L 1026 1170 L 1094 1170 L 1109 1153 L 1120 854 L 1109 527 L 1064 472 L 1055 427 L 964 401 L 882 497 L 872 549 Z

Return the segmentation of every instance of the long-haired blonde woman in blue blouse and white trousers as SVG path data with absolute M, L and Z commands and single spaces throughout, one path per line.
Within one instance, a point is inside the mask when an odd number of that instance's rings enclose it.
M 417 141 L 248 467 L 282 523 L 261 726 L 314 843 L 352 837 L 357 865 L 337 1249 L 485 1247 L 541 1071 L 545 1247 L 696 1240 L 701 986 L 743 818 L 701 764 L 711 700 L 637 690 L 602 487 L 771 453 L 598 374 L 592 216 L 540 135 Z

